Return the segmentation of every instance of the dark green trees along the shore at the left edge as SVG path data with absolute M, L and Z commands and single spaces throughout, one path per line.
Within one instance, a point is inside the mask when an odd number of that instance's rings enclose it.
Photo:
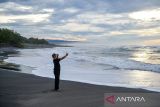
M 45 39 L 38 38 L 25 38 L 19 33 L 6 29 L 0 28 L 0 46 L 13 46 L 13 47 L 24 47 L 25 43 L 29 44 L 48 44 Z

